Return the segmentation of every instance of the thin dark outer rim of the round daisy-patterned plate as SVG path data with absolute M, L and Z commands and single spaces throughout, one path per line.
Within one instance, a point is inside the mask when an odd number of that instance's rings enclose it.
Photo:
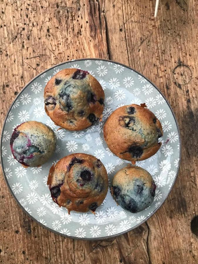
M 39 76 L 41 76 L 43 73 L 45 72 L 48 72 L 49 70 L 52 70 L 53 68 L 55 67 L 58 67 L 60 65 L 64 65 L 64 64 L 67 64 L 67 63 L 70 63 L 70 62 L 77 62 L 77 61 L 82 61 L 82 60 L 99 60 L 99 61 L 106 61 L 106 62 L 112 62 L 112 63 L 115 63 L 115 64 L 119 64 L 123 67 L 126 67 L 130 70 L 133 70 L 134 72 L 138 73 L 139 75 L 141 75 L 143 78 L 145 78 L 150 84 L 153 85 L 153 87 L 155 87 L 155 89 L 157 89 L 157 91 L 163 96 L 163 98 L 165 99 L 167 105 L 169 106 L 171 112 L 172 112 L 172 115 L 175 119 L 175 123 L 176 123 L 176 126 L 177 126 L 177 131 L 178 131 L 178 135 L 179 135 L 179 142 L 180 142 L 180 153 L 179 153 L 179 163 L 178 163 L 178 167 L 177 167 L 177 171 L 176 171 L 176 175 L 175 175 L 175 179 L 174 181 L 172 182 L 172 186 L 171 188 L 169 189 L 168 193 L 166 194 L 165 198 L 163 199 L 162 203 L 155 208 L 155 210 L 149 215 L 147 216 L 143 221 L 141 221 L 140 223 L 138 223 L 136 226 L 133 226 L 132 228 L 128 229 L 128 230 L 125 230 L 121 233 L 117 233 L 117 234 L 114 234 L 114 235 L 111 235 L 111 236 L 103 236 L 103 237 L 97 237 L 97 238 L 79 238 L 79 237 L 75 237 L 75 236 L 68 236 L 68 235 L 65 235 L 65 234 L 62 234 L 60 232 L 57 232 L 51 228 L 49 228 L 48 226 L 45 226 L 43 224 L 41 224 L 37 219 L 35 219 L 33 216 L 31 216 L 31 214 L 29 214 L 25 208 L 19 203 L 18 199 L 16 198 L 15 194 L 13 193 L 12 189 L 11 189 L 11 186 L 9 185 L 9 182 L 6 178 L 6 174 L 5 174 L 5 171 L 4 171 L 4 165 L 3 165 L 3 157 L 2 157 L 2 140 L 3 140 L 3 131 L 4 131 L 4 128 L 5 128 L 5 124 L 6 124 L 6 120 L 8 118 L 8 115 L 12 109 L 12 106 L 13 104 L 16 102 L 16 100 L 18 99 L 18 97 L 21 95 L 21 93 L 28 87 L 29 84 L 31 84 L 31 82 L 33 82 L 35 79 L 37 79 Z M 160 207 L 163 205 L 163 203 L 165 202 L 165 200 L 167 199 L 167 197 L 169 196 L 170 192 L 172 191 L 172 188 L 173 186 L 175 185 L 175 181 L 177 180 L 177 177 L 178 177 L 178 173 L 179 173 L 179 169 L 180 169 L 180 163 L 181 163 L 181 136 L 180 136 L 180 129 L 179 129 L 179 125 L 178 125 L 178 122 L 177 122 L 177 119 L 175 117 L 175 114 L 174 114 L 174 111 L 172 110 L 172 107 L 170 106 L 170 103 L 168 102 L 168 100 L 166 99 L 166 97 L 162 94 L 162 92 L 160 91 L 160 89 L 153 83 L 151 82 L 147 77 L 145 77 L 142 73 L 138 72 L 137 70 L 127 66 L 127 65 L 124 65 L 120 62 L 116 62 L 116 61 L 113 61 L 113 60 L 106 60 L 106 59 L 100 59 L 100 58 L 81 58 L 81 59 L 74 59 L 74 60 L 68 60 L 68 61 L 65 61 L 65 62 L 61 62 L 59 64 L 56 64 L 46 70 L 44 70 L 43 72 L 41 72 L 40 74 L 36 75 L 33 79 L 31 79 L 24 87 L 23 89 L 18 93 L 18 95 L 15 97 L 15 99 L 13 100 L 13 102 L 11 103 L 11 106 L 9 107 L 9 110 L 5 116 L 5 119 L 4 119 L 4 123 L 3 123 L 3 126 L 2 126 L 2 130 L 1 130 L 1 141 L 0 141 L 0 161 L 1 161 L 1 168 L 2 168 L 2 172 L 3 172 L 3 175 L 4 175 L 4 180 L 8 186 L 8 189 L 10 191 L 10 193 L 12 194 L 13 198 L 15 199 L 16 203 L 19 205 L 19 207 L 33 220 L 35 221 L 36 223 L 38 223 L 40 226 L 42 226 L 43 228 L 57 234 L 57 235 L 60 235 L 60 236 L 64 236 L 64 237 L 67 237 L 67 238 L 71 238 L 71 239 L 77 239 L 77 240 L 104 240 L 104 239 L 108 239 L 108 238 L 114 238 L 114 237 L 117 237 L 117 236 L 121 236 L 125 233 L 128 233 L 129 231 L 133 230 L 133 229 L 136 229 L 138 226 L 142 225 L 143 223 L 145 223 L 151 216 L 153 216 L 156 211 L 158 211 L 158 209 L 160 209 Z M 108 188 L 109 189 L 109 188 Z

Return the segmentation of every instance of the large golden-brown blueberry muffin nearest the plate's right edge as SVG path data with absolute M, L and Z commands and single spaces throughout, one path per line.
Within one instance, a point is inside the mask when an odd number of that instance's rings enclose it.
M 135 163 L 154 155 L 162 143 L 162 126 L 145 104 L 117 108 L 104 125 L 104 139 L 109 149 L 124 160 Z

